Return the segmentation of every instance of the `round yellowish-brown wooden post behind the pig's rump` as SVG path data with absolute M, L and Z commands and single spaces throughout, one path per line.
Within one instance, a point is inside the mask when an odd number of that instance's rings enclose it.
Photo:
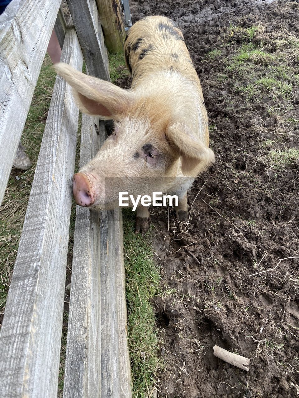
M 119 0 L 96 0 L 106 47 L 112 53 L 123 51 L 125 30 Z

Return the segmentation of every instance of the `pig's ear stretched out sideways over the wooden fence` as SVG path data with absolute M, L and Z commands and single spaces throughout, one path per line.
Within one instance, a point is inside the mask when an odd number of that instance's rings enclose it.
M 122 115 L 132 100 L 132 93 L 105 80 L 88 76 L 62 62 L 54 68 L 70 86 L 79 109 L 102 119 L 113 119 Z

